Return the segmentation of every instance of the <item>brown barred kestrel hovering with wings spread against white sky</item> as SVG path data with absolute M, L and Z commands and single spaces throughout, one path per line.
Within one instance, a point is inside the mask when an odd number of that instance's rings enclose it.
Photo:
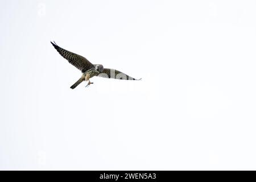
M 119 80 L 137 80 L 115 69 L 104 68 L 101 64 L 92 64 L 85 57 L 82 57 L 80 55 L 77 55 L 76 53 L 67 51 L 66 49 L 57 46 L 57 44 L 54 41 L 53 43 L 51 42 L 51 44 L 60 53 L 62 57 L 67 59 L 69 63 L 71 63 L 77 69 L 80 69 L 80 71 L 82 72 L 81 78 L 79 78 L 79 80 L 77 80 L 75 84 L 73 84 L 70 87 L 71 89 L 75 89 L 76 86 L 81 84 L 81 82 L 83 81 L 88 81 L 88 84 L 86 86 L 93 84 L 93 82 L 90 82 L 89 79 L 94 76 L 104 78 L 115 78 Z

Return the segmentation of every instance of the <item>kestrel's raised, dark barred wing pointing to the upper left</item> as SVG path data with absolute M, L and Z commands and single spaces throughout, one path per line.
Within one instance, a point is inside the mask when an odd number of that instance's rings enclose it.
M 67 51 L 59 46 L 54 42 L 52 43 L 52 46 L 60 53 L 62 57 L 68 60 L 69 63 L 74 65 L 77 69 L 80 69 L 82 72 L 85 72 L 86 70 L 93 68 L 93 64 L 90 63 L 85 57 L 82 57 L 80 55 L 77 55 L 76 53 Z

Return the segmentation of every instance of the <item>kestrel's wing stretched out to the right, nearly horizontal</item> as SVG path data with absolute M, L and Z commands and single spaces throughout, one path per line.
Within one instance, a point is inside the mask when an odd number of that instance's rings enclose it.
M 104 77 L 104 78 L 114 78 L 119 80 L 137 80 L 133 77 L 126 75 L 125 73 L 117 71 L 116 69 L 109 69 L 109 68 L 104 68 L 103 72 L 97 76 Z

